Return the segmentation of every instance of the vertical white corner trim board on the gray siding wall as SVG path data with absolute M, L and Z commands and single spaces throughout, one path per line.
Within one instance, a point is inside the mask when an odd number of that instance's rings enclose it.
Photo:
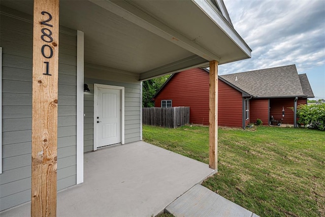
M 84 33 L 77 31 L 77 184 L 83 182 Z

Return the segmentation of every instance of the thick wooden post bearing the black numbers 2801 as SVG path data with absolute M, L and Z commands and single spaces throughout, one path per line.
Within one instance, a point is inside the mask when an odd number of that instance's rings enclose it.
M 31 216 L 56 215 L 59 0 L 34 0 Z

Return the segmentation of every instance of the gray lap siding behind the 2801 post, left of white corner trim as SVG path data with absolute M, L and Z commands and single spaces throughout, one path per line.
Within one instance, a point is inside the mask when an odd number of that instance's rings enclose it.
M 14 12 L 6 7 L 2 11 Z M 8 12 L 7 11 L 7 12 Z M 16 19 L 19 16 L 22 19 Z M 3 173 L 0 210 L 30 201 L 32 17 L 1 14 L 3 47 Z M 76 184 L 77 31 L 60 26 L 57 190 Z

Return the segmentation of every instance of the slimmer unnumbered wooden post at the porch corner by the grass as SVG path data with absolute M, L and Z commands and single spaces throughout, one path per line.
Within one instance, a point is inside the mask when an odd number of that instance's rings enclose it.
M 210 61 L 209 167 L 218 170 L 218 62 Z

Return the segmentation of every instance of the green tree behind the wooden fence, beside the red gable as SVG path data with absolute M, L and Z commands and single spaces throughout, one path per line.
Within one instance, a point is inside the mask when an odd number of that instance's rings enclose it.
M 154 103 L 151 101 L 152 97 L 170 76 L 165 75 L 142 82 L 142 107 L 154 107 Z

